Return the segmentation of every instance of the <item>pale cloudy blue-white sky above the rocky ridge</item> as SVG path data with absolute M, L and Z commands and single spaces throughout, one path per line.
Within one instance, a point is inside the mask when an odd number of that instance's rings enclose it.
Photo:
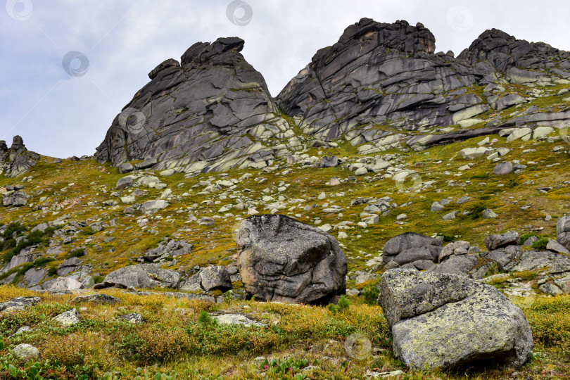
M 457 56 L 493 27 L 570 50 L 569 14 L 566 0 L 0 0 L 0 139 L 92 155 L 148 72 L 195 42 L 241 37 L 277 96 L 360 18 L 422 23 Z

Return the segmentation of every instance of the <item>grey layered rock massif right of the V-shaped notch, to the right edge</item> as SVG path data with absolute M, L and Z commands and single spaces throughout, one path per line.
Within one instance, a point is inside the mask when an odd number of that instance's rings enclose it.
M 303 132 L 365 144 L 359 148 L 362 153 L 394 147 L 422 150 L 495 134 L 505 125 L 493 119 L 493 110 L 526 101 L 517 94 L 500 94 L 504 88 L 486 89 L 480 96 L 464 87 L 493 81 L 562 84 L 570 78 L 567 51 L 498 30 L 483 32 L 457 58 L 452 52 L 434 51 L 435 37 L 422 24 L 363 18 L 336 44 L 317 51 L 277 96 L 277 104 Z M 536 110 L 526 117 L 547 118 L 546 125 L 555 127 L 568 125 L 570 119 L 564 113 Z M 486 127 L 441 130 L 481 122 Z M 436 130 L 428 134 L 406 132 L 432 127 Z

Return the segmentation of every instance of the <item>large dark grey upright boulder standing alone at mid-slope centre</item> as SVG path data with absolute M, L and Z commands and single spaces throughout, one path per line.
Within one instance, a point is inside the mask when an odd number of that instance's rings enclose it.
M 262 300 L 328 303 L 346 291 L 346 256 L 331 235 L 284 215 L 253 215 L 236 236 L 248 293 Z

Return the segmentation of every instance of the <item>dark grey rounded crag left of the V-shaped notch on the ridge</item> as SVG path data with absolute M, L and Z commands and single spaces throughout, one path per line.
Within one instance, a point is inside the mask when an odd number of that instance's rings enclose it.
M 207 172 L 263 167 L 300 141 L 267 84 L 241 55 L 243 40 L 197 42 L 169 59 L 113 120 L 95 155 L 118 166 L 156 158 L 156 169 Z

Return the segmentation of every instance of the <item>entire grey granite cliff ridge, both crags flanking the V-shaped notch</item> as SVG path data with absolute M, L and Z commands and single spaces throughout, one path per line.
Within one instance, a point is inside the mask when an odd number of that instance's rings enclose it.
M 272 165 L 314 139 L 350 141 L 359 153 L 420 151 L 523 124 L 570 124 L 568 110 L 500 115 L 568 82 L 568 52 L 495 29 L 457 58 L 435 53 L 435 43 L 420 23 L 362 18 L 272 99 L 239 53 L 243 40 L 198 42 L 181 64 L 169 59 L 150 72 L 95 157 L 115 166 L 151 158 L 153 169 L 194 175 Z M 527 96 L 502 84 L 524 85 Z

